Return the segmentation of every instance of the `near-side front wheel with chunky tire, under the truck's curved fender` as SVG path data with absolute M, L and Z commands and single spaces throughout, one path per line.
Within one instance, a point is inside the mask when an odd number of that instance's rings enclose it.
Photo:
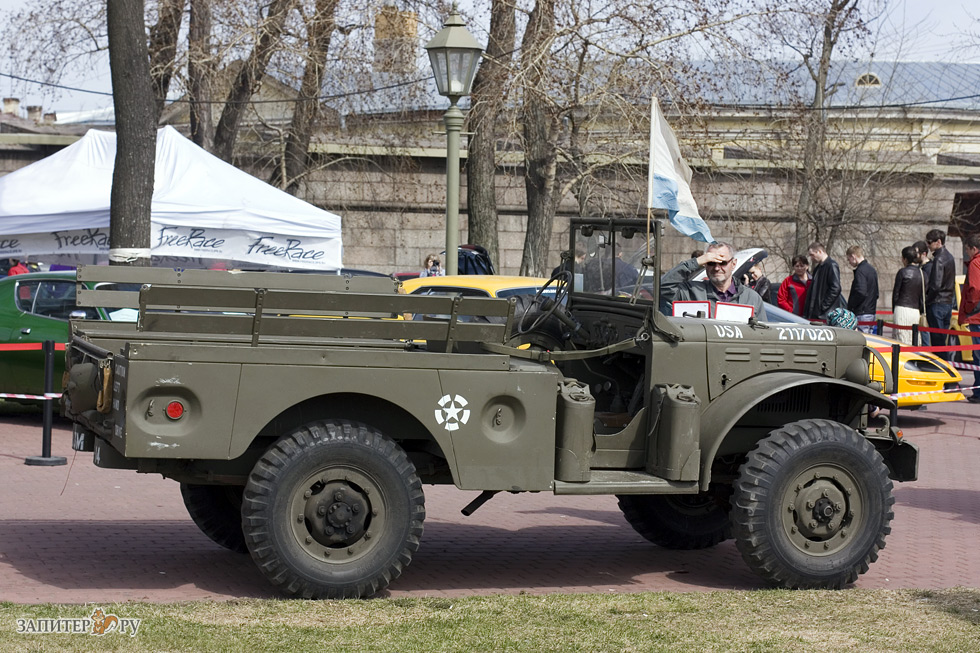
M 751 451 L 732 495 L 732 528 L 756 573 L 788 588 L 839 589 L 878 559 L 891 532 L 892 482 L 851 428 L 803 420 Z

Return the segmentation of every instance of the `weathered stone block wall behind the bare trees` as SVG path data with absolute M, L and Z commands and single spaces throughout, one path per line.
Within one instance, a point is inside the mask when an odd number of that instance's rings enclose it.
M 370 165 L 341 167 L 331 165 L 311 176 L 305 199 L 343 218 L 344 264 L 379 272 L 403 272 L 420 268 L 429 253 L 445 247 L 445 167 L 441 160 L 406 163 L 375 161 Z M 522 213 L 524 185 L 521 169 L 504 170 L 498 175 L 500 266 L 502 274 L 517 274 L 524 247 L 527 218 Z M 462 176 L 460 242 L 467 241 L 465 175 Z M 841 266 L 845 294 L 852 273 L 845 250 L 860 245 L 868 261 L 878 270 L 879 310 L 891 306 L 895 273 L 901 267 L 901 250 L 925 237 L 932 228 L 946 230 L 956 192 L 974 189 L 970 182 L 920 181 L 892 189 L 880 200 L 880 210 L 888 217 L 880 223 L 845 232 L 830 248 Z M 717 240 L 731 242 L 736 249 L 764 247 L 770 258 L 763 268 L 773 285 L 789 273 L 787 259 L 792 256 L 793 224 L 786 217 L 795 202 L 785 180 L 777 176 L 696 175 L 692 183 L 702 215 Z M 924 190 L 925 189 L 925 190 Z M 635 194 L 637 189 L 624 189 Z M 568 220 L 576 214 L 571 201 L 562 204 L 552 232 L 548 266 L 557 265 L 560 252 L 567 247 Z M 643 212 L 637 212 L 643 217 Z M 962 245 L 958 238 L 947 244 L 958 261 Z M 698 243 L 668 227 L 662 245 L 664 269 L 688 258 Z M 805 254 L 805 252 L 802 252 Z M 958 271 L 962 264 L 958 263 Z

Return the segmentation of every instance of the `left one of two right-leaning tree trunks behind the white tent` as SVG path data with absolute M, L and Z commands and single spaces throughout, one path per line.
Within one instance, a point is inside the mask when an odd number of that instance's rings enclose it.
M 225 108 L 221 112 L 221 120 L 214 133 L 214 154 L 231 163 L 232 151 L 235 149 L 235 139 L 241 126 L 242 115 L 245 113 L 246 101 L 252 97 L 262 85 L 262 76 L 269 65 L 269 59 L 276 51 L 282 35 L 282 26 L 286 16 L 293 8 L 296 0 L 272 0 L 265 20 L 258 28 L 258 38 L 248 59 L 232 82 Z

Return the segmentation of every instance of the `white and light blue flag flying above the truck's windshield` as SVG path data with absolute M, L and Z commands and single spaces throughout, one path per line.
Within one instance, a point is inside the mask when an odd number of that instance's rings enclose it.
M 698 214 L 691 195 L 691 169 L 681 156 L 674 130 L 667 124 L 656 97 L 650 99 L 650 167 L 647 207 L 667 209 L 670 224 L 694 240 L 714 241 L 711 229 Z

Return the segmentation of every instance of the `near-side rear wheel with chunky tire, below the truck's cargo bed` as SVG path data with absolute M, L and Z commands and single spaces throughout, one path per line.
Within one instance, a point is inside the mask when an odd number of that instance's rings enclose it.
M 361 598 L 408 566 L 425 498 L 395 442 L 324 420 L 283 436 L 255 464 L 242 518 L 252 559 L 273 585 L 303 598 Z

